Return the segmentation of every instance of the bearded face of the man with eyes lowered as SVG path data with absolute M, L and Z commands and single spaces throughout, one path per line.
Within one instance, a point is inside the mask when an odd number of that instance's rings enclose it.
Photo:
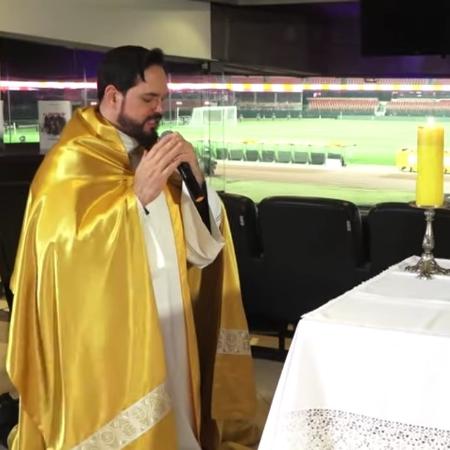
M 167 78 L 160 66 L 150 66 L 144 72 L 145 81 L 138 81 L 123 95 L 117 125 L 145 148 L 158 140 L 158 125 L 167 96 Z

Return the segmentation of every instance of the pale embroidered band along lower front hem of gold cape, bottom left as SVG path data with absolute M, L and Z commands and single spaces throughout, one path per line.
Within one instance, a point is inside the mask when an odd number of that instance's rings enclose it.
M 155 426 L 170 411 L 165 384 L 122 411 L 72 450 L 119 450 Z

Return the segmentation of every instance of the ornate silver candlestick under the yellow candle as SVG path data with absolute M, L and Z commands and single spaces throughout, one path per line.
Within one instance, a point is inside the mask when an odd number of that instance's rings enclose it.
M 415 205 L 413 205 L 415 206 Z M 419 261 L 412 266 L 406 266 L 407 272 L 417 273 L 418 278 L 430 279 L 433 275 L 450 275 L 450 269 L 444 269 L 434 259 L 434 235 L 433 235 L 433 219 L 434 208 L 425 208 L 425 235 L 423 237 L 422 248 L 423 253 Z

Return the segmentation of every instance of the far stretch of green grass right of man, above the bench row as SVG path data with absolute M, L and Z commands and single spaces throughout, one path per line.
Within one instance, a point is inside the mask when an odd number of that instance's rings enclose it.
M 258 150 L 293 150 L 340 153 L 347 164 L 395 165 L 402 148 L 416 148 L 417 127 L 426 118 L 361 117 L 343 119 L 249 120 L 236 126 L 193 128 L 171 126 L 187 139 L 212 147 Z M 439 120 L 445 128 L 446 147 L 450 119 Z

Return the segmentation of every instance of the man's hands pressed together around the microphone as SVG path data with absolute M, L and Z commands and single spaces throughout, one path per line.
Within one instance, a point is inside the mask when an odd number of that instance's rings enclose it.
M 144 152 L 134 176 L 134 192 L 142 205 L 145 206 L 158 197 L 167 179 L 182 162 L 191 166 L 197 182 L 201 185 L 204 177 L 194 148 L 178 133 L 164 136 L 151 150 Z

